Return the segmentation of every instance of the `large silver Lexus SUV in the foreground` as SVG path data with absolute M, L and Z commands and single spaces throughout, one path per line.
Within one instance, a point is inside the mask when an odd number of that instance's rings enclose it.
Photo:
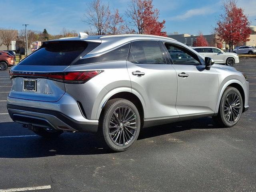
M 143 127 L 208 116 L 231 127 L 249 107 L 244 74 L 160 36 L 47 41 L 10 77 L 14 122 L 48 138 L 97 132 L 114 151 L 130 148 Z

